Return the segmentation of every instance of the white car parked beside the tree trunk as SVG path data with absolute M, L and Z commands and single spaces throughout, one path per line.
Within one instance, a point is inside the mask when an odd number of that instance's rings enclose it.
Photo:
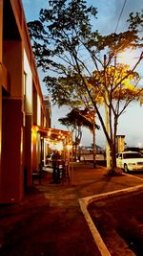
M 123 151 L 116 154 L 116 167 L 130 171 L 143 171 L 143 155 L 137 151 Z

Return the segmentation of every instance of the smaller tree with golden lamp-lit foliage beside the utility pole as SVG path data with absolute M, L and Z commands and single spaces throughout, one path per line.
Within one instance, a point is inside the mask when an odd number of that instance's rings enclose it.
M 100 89 L 102 88 L 102 90 L 100 90 L 100 97 L 104 99 L 108 119 L 108 125 L 106 122 L 104 123 L 105 127 L 108 126 L 105 132 L 108 131 L 110 137 L 110 139 L 108 139 L 107 136 L 107 140 L 112 154 L 112 166 L 115 168 L 115 142 L 118 119 L 133 100 L 140 100 L 142 89 L 136 88 L 138 74 L 133 71 L 131 72 L 128 65 L 115 64 L 114 66 L 107 67 L 106 56 L 104 58 L 104 69 L 93 72 L 90 82 L 94 86 L 97 79 L 96 86 Z M 133 83 L 131 81 L 133 81 Z

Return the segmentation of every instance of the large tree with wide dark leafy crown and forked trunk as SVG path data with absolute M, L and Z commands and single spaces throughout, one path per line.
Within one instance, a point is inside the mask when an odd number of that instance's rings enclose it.
M 97 12 L 92 6 L 88 7 L 86 1 L 51 0 L 49 4 L 48 10 L 40 11 L 39 20 L 28 24 L 37 66 L 42 67 L 44 72 L 49 72 L 44 81 L 54 103 L 64 105 L 70 99 L 70 103 L 79 104 L 77 99 L 82 93 L 88 99 L 110 145 L 114 173 L 117 122 L 121 113 L 142 92 L 137 89 L 139 78 L 135 70 L 143 54 L 140 54 L 132 69 L 126 67 L 125 71 L 122 70 L 122 76 L 119 71 L 123 66 L 119 65 L 116 57 L 129 47 L 139 46 L 137 31 L 103 36 L 92 30 L 93 18 L 96 18 Z M 119 76 L 116 77 L 116 74 Z M 72 78 L 77 78 L 77 82 L 72 82 Z M 63 82 L 64 80 L 67 82 Z M 132 81 L 133 85 L 130 86 Z M 119 98 L 114 98 L 114 95 Z M 126 99 L 122 110 L 121 95 Z M 104 99 L 107 105 L 110 133 L 100 111 L 98 98 Z

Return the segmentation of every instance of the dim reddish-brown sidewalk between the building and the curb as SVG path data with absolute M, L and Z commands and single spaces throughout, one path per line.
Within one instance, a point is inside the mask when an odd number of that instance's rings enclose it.
M 75 164 L 72 184 L 51 184 L 51 174 L 23 201 L 0 205 L 1 256 L 98 256 L 79 198 L 142 185 L 132 175 L 107 176 L 98 166 Z

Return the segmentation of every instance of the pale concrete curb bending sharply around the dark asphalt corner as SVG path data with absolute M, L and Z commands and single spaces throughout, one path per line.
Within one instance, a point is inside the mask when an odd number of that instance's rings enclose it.
M 79 204 L 81 211 L 88 222 L 88 225 L 90 227 L 90 230 L 92 232 L 92 237 L 94 240 L 94 243 L 96 244 L 101 256 L 112 256 L 110 251 L 108 250 L 106 244 L 104 244 L 94 222 L 92 221 L 92 218 L 90 216 L 90 213 L 88 211 L 88 205 L 92 203 L 92 201 L 96 201 L 102 198 L 112 198 L 114 196 L 124 195 L 131 192 L 137 192 L 143 190 L 143 185 L 133 186 L 130 188 L 122 189 L 122 190 L 116 190 L 108 193 L 103 193 L 99 195 L 95 195 L 92 197 L 86 197 L 86 198 L 79 198 Z

